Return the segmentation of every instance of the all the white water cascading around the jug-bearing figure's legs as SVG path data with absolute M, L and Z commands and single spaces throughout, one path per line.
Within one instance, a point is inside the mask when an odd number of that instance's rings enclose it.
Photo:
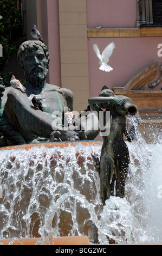
M 2 150 L 0 240 L 41 236 L 43 244 L 44 237 L 87 235 L 95 223 L 101 245 L 162 242 L 162 143 L 147 144 L 138 129 L 126 143 L 126 196 L 105 206 L 91 156 L 100 157 L 100 145 Z

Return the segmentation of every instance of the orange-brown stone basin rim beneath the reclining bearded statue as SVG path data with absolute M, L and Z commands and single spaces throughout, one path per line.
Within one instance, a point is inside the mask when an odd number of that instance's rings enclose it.
M 33 147 L 44 147 L 47 148 L 55 148 L 55 147 L 68 147 L 71 145 L 72 147 L 75 147 L 76 145 L 102 145 L 103 141 L 64 141 L 64 142 L 43 142 L 43 143 L 36 143 L 36 144 L 23 144 L 23 145 L 14 145 L 14 146 L 8 146 L 8 147 L 1 147 L 0 150 L 12 150 L 12 149 L 26 149 L 29 150 Z

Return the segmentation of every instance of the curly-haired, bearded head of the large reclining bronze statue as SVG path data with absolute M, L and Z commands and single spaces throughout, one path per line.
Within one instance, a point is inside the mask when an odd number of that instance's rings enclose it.
M 20 68 L 30 83 L 41 86 L 46 79 L 49 67 L 49 52 L 41 41 L 25 41 L 19 47 L 17 59 Z

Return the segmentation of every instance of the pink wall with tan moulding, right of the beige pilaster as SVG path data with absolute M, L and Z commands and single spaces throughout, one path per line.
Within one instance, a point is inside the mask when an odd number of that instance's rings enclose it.
M 102 84 L 109 88 L 125 86 L 141 70 L 155 62 L 158 63 L 158 70 L 154 80 L 160 75 L 162 31 L 160 27 L 155 26 L 137 27 L 137 2 L 87 0 L 90 96 L 98 94 Z M 100 25 L 100 31 L 105 31 L 105 34 L 91 29 Z M 113 71 L 101 72 L 97 69 L 98 62 L 92 46 L 94 43 L 98 44 L 102 52 L 112 41 L 116 46 L 109 60 Z M 159 84 L 153 89 L 159 90 L 161 87 L 162 84 Z M 143 89 L 150 90 L 148 83 Z

